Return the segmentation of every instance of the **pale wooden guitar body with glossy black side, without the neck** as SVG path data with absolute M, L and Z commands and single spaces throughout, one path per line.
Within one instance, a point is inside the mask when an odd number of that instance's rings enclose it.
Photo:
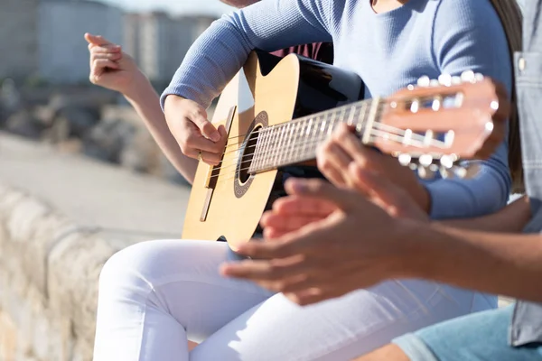
M 220 96 L 212 121 L 226 125 L 229 142 L 218 166 L 201 162 L 198 167 L 182 238 L 216 241 L 222 236 L 234 250 L 247 242 L 266 208 L 277 170 L 243 171 L 243 153 L 254 146 L 246 135 L 356 101 L 363 88 L 356 74 L 318 61 L 252 52 Z

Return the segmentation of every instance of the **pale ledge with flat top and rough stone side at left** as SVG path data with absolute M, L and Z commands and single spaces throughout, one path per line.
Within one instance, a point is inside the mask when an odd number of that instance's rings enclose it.
M 189 190 L 0 134 L 0 360 L 91 360 L 98 275 L 179 237 Z

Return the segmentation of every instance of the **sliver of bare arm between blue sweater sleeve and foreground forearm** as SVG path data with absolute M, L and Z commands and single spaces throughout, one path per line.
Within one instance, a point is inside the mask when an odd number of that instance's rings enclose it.
M 519 233 L 531 218 L 527 197 L 516 199 L 497 213 L 479 218 L 449 219 L 439 222 L 443 226 L 486 232 Z

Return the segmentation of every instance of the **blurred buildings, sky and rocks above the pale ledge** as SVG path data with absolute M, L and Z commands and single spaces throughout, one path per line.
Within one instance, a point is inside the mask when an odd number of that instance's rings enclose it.
M 0 129 L 182 183 L 131 107 L 89 83 L 85 32 L 123 45 L 161 92 L 218 0 L 1 0 Z M 143 131 L 143 134 L 142 132 Z

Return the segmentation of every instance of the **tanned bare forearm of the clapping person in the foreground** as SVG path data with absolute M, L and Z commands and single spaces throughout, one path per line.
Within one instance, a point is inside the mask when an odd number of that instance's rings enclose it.
M 542 301 L 542 236 L 504 235 L 453 227 L 409 227 L 411 277 Z

